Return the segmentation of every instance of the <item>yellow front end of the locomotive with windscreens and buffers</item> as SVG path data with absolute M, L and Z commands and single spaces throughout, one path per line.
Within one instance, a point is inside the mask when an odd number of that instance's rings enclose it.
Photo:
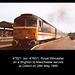
M 25 46 L 36 45 L 37 40 L 37 19 L 30 16 L 20 16 L 14 20 L 13 45 Z

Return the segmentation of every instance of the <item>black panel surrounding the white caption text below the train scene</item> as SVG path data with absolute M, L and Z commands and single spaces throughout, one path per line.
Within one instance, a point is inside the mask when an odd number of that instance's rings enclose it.
M 13 65 L 13 57 L 64 57 L 64 64 L 58 68 L 19 68 Z M 68 72 L 75 67 L 75 50 L 0 50 L 0 69 L 13 72 Z

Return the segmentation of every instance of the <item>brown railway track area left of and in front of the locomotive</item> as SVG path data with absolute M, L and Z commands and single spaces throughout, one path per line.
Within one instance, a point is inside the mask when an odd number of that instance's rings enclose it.
M 30 50 L 30 47 L 12 46 L 13 37 L 0 37 L 1 50 Z

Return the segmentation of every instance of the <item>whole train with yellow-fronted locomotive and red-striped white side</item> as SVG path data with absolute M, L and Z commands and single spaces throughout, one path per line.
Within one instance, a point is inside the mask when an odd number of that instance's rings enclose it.
M 34 14 L 21 14 L 14 19 L 13 45 L 35 46 L 65 36 L 65 33 Z

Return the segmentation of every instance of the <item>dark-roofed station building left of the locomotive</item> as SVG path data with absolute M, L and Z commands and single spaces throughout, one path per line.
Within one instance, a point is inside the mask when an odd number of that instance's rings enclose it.
M 0 22 L 0 36 L 12 36 L 13 35 L 13 24 L 11 22 L 2 21 Z

